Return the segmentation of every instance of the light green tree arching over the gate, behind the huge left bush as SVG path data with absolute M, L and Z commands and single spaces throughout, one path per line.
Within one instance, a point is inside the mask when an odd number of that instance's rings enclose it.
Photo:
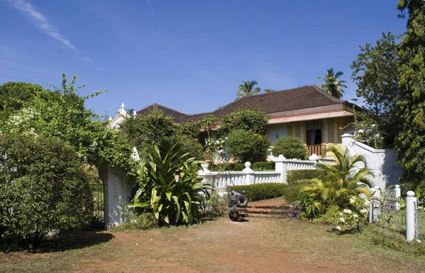
M 75 86 L 77 76 L 67 84 L 62 74 L 61 88 L 54 91 L 35 88 L 32 98 L 23 102 L 19 110 L 13 110 L 7 119 L 0 120 L 0 131 L 4 134 L 35 134 L 55 136 L 74 147 L 84 163 L 107 164 L 123 170 L 130 178 L 137 175 L 135 161 L 132 161 L 132 146 L 123 135 L 113 132 L 92 110 L 86 110 L 84 103 L 104 91 L 80 97 L 77 92 L 83 86 Z

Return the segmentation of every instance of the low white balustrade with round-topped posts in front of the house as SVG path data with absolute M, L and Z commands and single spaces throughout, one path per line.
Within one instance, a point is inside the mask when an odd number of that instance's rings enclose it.
M 274 171 L 254 171 L 251 170 L 251 163 L 246 162 L 242 171 L 211 172 L 208 170 L 208 164 L 202 165 L 203 170 L 199 170 L 205 182 L 208 182 L 217 190 L 223 190 L 227 186 L 251 185 L 260 183 L 286 183 L 286 176 L 290 170 L 314 170 L 317 162 L 335 164 L 331 158 L 320 159 L 310 156 L 311 160 L 300 161 L 295 159 L 286 159 L 283 156 L 273 158 L 276 165 Z

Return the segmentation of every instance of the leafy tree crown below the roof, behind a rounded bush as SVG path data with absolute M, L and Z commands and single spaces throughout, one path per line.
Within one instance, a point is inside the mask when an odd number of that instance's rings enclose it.
M 243 129 L 265 135 L 267 120 L 267 115 L 259 108 L 239 109 L 223 118 L 220 132 L 229 134 L 234 129 Z

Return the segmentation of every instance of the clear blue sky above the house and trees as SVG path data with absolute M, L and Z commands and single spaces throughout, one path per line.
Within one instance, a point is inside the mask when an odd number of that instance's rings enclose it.
M 78 75 L 87 106 L 115 115 L 122 102 L 181 112 L 214 110 L 242 80 L 261 88 L 320 82 L 344 71 L 359 45 L 401 34 L 397 0 L 0 0 L 0 84 Z

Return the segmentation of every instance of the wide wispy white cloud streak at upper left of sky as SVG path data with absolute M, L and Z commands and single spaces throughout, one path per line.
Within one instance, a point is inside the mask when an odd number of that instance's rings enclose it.
M 60 33 L 60 31 L 55 27 L 55 25 L 52 25 L 51 23 L 49 23 L 47 18 L 44 15 L 42 15 L 42 13 L 37 11 L 35 6 L 30 4 L 30 2 L 25 0 L 6 0 L 6 1 L 11 6 L 13 6 L 13 8 L 16 8 L 19 11 L 22 11 L 24 14 L 26 14 L 26 16 L 28 16 L 28 18 L 30 18 L 33 21 L 34 25 L 40 30 L 42 30 L 43 33 L 54 38 L 65 47 L 72 50 L 73 52 L 81 55 L 81 52 L 77 49 L 77 47 L 72 45 L 72 42 L 69 41 L 68 38 L 65 37 L 65 35 Z M 82 57 L 81 60 L 83 60 L 84 62 L 88 62 L 89 64 L 93 64 L 97 66 L 97 64 L 95 64 L 93 59 L 91 59 L 90 57 Z

